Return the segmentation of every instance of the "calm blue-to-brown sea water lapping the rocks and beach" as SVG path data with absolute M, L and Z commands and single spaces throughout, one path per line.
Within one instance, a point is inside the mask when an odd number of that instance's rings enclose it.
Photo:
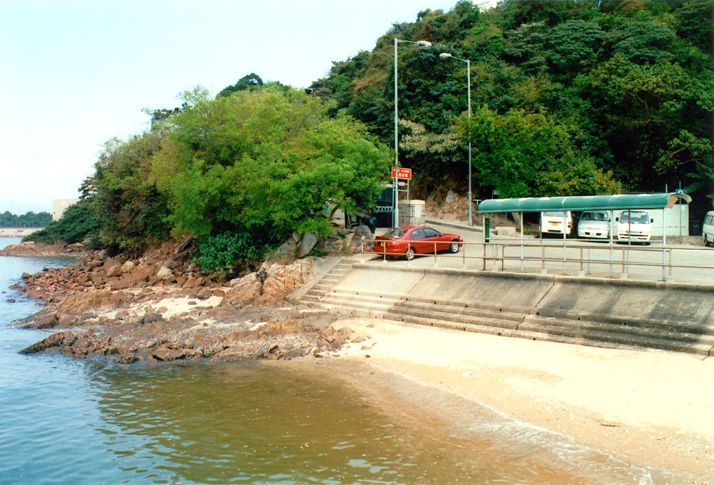
M 9 325 L 39 307 L 9 303 L 21 297 L 7 287 L 62 263 L 0 257 L 1 484 L 648 481 L 569 443 L 534 446 L 540 431 L 496 443 L 499 433 L 528 434 L 513 421 L 481 415 L 487 439 L 450 437 L 436 431 L 443 422 L 416 426 L 326 371 L 289 363 L 126 366 L 18 354 L 51 332 Z M 571 470 L 553 471 L 551 460 Z

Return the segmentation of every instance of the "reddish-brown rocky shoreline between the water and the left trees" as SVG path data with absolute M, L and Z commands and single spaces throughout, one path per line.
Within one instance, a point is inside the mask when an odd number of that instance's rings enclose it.
M 4 255 L 79 256 L 69 266 L 23 274 L 12 286 L 46 305 L 17 324 L 59 330 L 21 352 L 106 356 L 123 363 L 290 359 L 335 354 L 342 344 L 365 339 L 352 336 L 349 327 L 334 329 L 333 314 L 285 300 L 315 277 L 313 257 L 266 261 L 258 271 L 226 280 L 199 271 L 185 246 L 167 243 L 139 259 L 66 246 L 8 246 Z

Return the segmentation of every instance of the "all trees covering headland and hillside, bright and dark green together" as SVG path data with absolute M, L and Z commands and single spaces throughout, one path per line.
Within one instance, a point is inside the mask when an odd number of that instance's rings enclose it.
M 369 207 L 393 164 L 394 39 L 400 159 L 416 194 L 480 199 L 714 192 L 714 1 L 458 1 L 393 24 L 371 51 L 303 92 L 255 73 L 215 99 L 200 87 L 151 128 L 107 142 L 79 204 L 31 236 L 138 252 L 195 236 L 205 269 L 260 261 L 328 212 Z M 471 61 L 441 59 L 446 52 Z M 471 79 L 472 116 L 467 109 Z

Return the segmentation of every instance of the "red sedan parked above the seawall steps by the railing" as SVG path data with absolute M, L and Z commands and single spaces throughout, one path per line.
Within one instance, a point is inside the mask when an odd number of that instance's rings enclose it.
M 401 226 L 383 236 L 376 236 L 372 251 L 388 256 L 404 256 L 411 261 L 416 254 L 434 254 L 434 251 L 457 253 L 461 243 L 461 236 L 439 232 L 428 226 Z

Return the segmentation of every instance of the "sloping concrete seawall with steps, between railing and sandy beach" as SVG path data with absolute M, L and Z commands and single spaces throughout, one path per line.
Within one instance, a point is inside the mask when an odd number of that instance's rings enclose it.
M 347 316 L 709 356 L 714 286 L 351 264 L 301 300 Z

